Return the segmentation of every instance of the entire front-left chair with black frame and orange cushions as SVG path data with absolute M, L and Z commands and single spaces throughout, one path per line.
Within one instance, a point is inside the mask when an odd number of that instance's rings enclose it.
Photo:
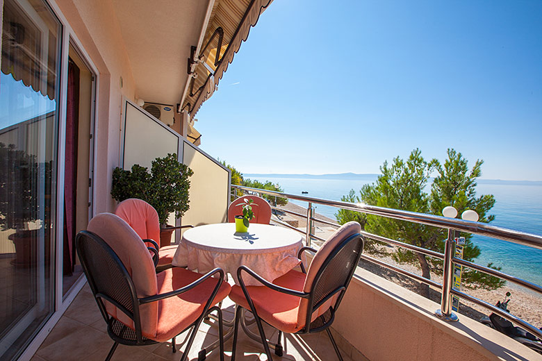
M 202 276 L 174 267 L 156 274 L 151 255 L 141 238 L 125 221 L 101 213 L 79 232 L 76 249 L 90 289 L 107 323 L 114 344 L 140 346 L 166 342 L 194 326 L 181 361 L 188 351 L 204 317 L 217 312 L 220 360 L 224 360 L 222 312 L 215 305 L 231 287 L 222 282 L 224 272 L 213 269 Z M 203 354 L 202 354 L 203 353 Z M 205 351 L 200 351 L 200 359 Z

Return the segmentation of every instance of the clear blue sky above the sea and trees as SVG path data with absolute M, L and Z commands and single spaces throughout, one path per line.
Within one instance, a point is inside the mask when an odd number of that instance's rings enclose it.
M 196 115 L 245 174 L 379 173 L 454 148 L 542 181 L 542 1 L 274 0 Z

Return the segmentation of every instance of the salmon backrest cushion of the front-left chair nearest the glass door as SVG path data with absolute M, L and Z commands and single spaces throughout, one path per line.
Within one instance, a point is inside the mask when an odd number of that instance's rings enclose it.
M 126 221 L 112 213 L 101 213 L 90 220 L 88 230 L 101 237 L 115 251 L 132 278 L 138 298 L 158 293 L 156 270 L 151 255 L 145 243 Z M 135 327 L 124 312 L 117 310 L 111 303 L 104 303 L 108 314 L 126 326 Z M 158 303 L 141 305 L 139 310 L 142 334 L 145 337 L 154 337 L 158 322 Z

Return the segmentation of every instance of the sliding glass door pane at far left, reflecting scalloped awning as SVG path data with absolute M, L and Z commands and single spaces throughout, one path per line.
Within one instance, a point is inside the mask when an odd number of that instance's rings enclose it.
M 42 0 L 4 0 L 0 73 L 0 359 L 55 310 L 60 22 Z

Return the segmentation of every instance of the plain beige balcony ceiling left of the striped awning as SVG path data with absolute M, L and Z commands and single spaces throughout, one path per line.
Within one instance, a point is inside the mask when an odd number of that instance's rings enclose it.
M 113 0 L 137 95 L 175 105 L 188 81 L 190 47 L 197 46 L 209 0 Z

